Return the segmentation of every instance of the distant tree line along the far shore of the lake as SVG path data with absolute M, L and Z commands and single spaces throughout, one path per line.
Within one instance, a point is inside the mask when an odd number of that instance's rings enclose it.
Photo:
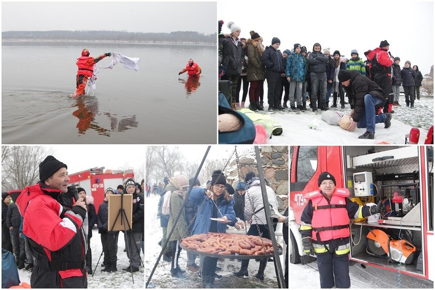
M 204 35 L 194 31 L 171 33 L 142 33 L 125 31 L 6 31 L 2 40 L 52 40 L 52 41 L 116 41 L 151 43 L 202 43 L 216 44 L 217 34 Z

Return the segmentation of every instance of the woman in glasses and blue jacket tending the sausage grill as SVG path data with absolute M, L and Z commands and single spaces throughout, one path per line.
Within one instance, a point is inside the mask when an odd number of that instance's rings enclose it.
M 227 224 L 234 226 L 236 222 L 234 200 L 225 189 L 227 179 L 221 170 L 215 170 L 211 177 L 210 190 L 194 188 L 188 200 L 198 204 L 198 214 L 192 234 L 207 232 L 226 232 Z M 228 221 L 212 221 L 210 218 L 224 218 Z M 201 256 L 203 257 L 203 256 Z M 202 265 L 203 288 L 214 288 L 214 277 L 218 258 L 205 256 Z

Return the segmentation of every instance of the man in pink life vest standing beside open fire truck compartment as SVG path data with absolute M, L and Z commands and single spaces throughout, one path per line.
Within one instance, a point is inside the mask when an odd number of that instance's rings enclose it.
M 302 244 L 308 255 L 316 254 L 322 288 L 349 288 L 349 219 L 380 213 L 377 205 L 352 202 L 349 190 L 335 188 L 335 178 L 322 172 L 318 179 L 320 191 L 305 194 L 308 200 L 301 216 Z

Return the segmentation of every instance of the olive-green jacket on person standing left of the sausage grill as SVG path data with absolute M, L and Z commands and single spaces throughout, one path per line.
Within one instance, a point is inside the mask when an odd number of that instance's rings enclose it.
M 166 191 L 172 191 L 169 201 L 169 222 L 167 223 L 167 234 L 169 234 L 174 225 L 175 219 L 177 218 L 178 213 L 181 210 L 181 206 L 183 205 L 183 195 L 180 190 L 178 190 L 171 182 L 167 184 L 165 189 Z M 186 215 L 183 208 L 180 219 L 178 220 L 169 241 L 178 241 L 186 238 L 188 235 L 189 231 L 187 229 Z

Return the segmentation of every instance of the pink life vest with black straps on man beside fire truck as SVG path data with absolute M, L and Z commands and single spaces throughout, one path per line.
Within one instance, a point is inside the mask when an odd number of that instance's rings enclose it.
M 329 202 L 319 191 L 305 195 L 306 199 L 311 199 L 314 209 L 311 220 L 313 241 L 329 241 L 350 236 L 346 209 L 348 196 L 349 190 L 345 188 L 336 188 Z

